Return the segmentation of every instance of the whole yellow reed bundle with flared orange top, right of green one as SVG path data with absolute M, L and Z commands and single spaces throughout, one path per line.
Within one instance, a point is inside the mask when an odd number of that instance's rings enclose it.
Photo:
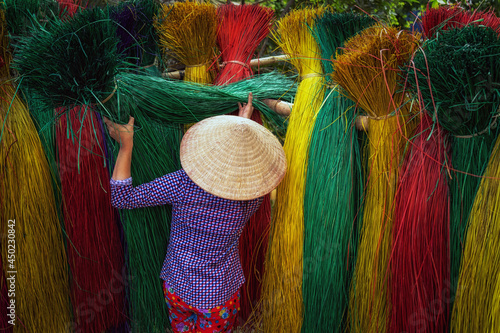
M 392 27 L 368 28 L 345 44 L 332 76 L 368 115 L 368 184 L 350 291 L 352 332 L 385 332 L 390 313 L 389 256 L 397 170 L 414 112 L 398 86 L 400 67 L 419 36 Z

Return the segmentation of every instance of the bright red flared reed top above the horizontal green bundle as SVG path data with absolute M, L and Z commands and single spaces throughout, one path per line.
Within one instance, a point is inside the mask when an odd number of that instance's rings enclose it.
M 250 60 L 260 42 L 269 34 L 273 11 L 259 5 L 217 8 L 219 29 L 217 44 L 221 51 L 222 70 L 214 84 L 222 85 L 251 76 Z

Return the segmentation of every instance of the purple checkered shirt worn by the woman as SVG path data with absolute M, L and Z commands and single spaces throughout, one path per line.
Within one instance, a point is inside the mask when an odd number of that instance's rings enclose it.
M 160 278 L 198 309 L 224 304 L 245 282 L 239 237 L 262 198 L 216 197 L 179 170 L 132 187 L 132 178 L 111 179 L 111 203 L 121 209 L 172 205 L 167 256 Z

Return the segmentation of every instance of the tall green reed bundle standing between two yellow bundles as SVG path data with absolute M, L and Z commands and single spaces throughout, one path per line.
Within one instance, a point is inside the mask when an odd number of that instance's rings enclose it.
M 356 106 L 328 75 L 344 41 L 374 24 L 366 15 L 326 12 L 316 20 L 327 91 L 309 146 L 304 196 L 304 322 L 302 332 L 342 332 L 356 262 L 362 198 Z

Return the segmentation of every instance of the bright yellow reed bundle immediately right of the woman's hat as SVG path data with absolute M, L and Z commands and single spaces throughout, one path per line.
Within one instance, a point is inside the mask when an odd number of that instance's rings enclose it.
M 324 97 L 320 50 L 311 35 L 324 8 L 292 11 L 273 34 L 290 56 L 301 82 L 285 138 L 288 169 L 278 186 L 263 281 L 264 332 L 300 332 L 303 318 L 302 270 L 304 191 L 307 152 L 316 113 Z

